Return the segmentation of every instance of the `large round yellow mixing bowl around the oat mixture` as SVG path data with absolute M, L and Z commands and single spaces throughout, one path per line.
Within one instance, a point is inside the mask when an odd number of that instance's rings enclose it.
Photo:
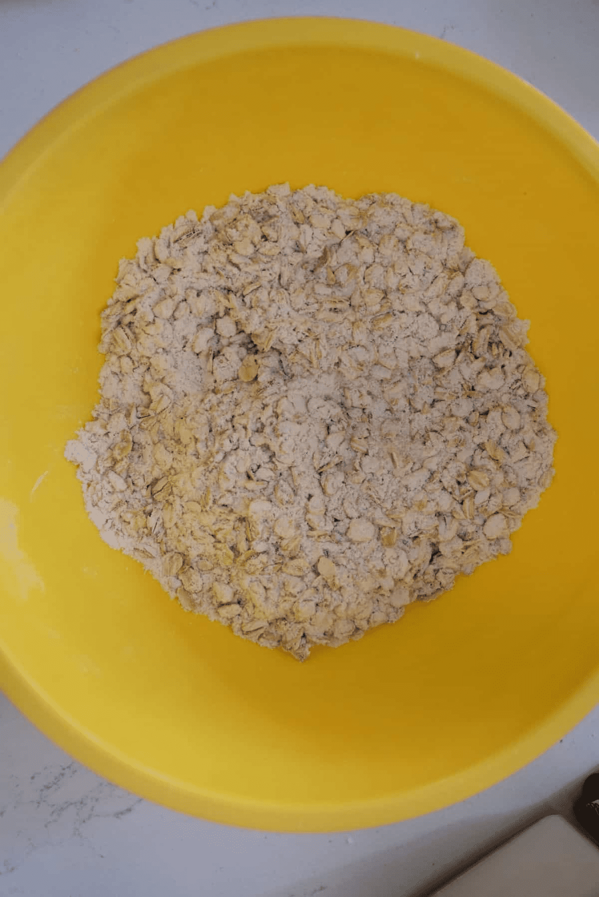
M 231 192 L 389 190 L 455 215 L 547 376 L 557 475 L 514 551 L 304 665 L 186 614 L 101 542 L 63 449 L 119 257 Z M 480 57 L 343 20 L 252 22 L 121 65 L 0 168 L 0 674 L 66 750 L 225 823 L 390 823 L 515 771 L 599 697 L 599 148 Z

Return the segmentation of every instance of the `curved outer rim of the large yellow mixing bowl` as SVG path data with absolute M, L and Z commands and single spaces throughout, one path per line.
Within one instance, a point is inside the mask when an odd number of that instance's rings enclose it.
M 115 96 L 124 96 L 141 84 L 152 83 L 156 78 L 198 62 L 256 48 L 306 43 L 334 43 L 411 55 L 423 64 L 484 84 L 499 97 L 516 104 L 557 138 L 599 183 L 599 145 L 595 140 L 541 91 L 489 60 L 443 40 L 392 26 L 347 19 L 287 18 L 245 22 L 176 39 L 129 59 L 85 85 L 34 126 L 4 158 L 0 166 L 0 208 L 13 188 L 27 176 L 30 167 L 57 139 L 64 139 L 69 128 L 79 126 L 84 118 L 110 105 Z M 236 796 L 215 797 L 199 788 L 183 788 L 174 779 L 131 764 L 113 748 L 108 750 L 75 718 L 58 710 L 48 694 L 31 683 L 18 658 L 9 657 L 5 652 L 0 652 L 0 683 L 7 696 L 42 732 L 121 787 L 182 812 L 201 812 L 205 818 L 219 823 L 290 832 L 343 831 L 391 823 L 470 797 L 481 787 L 489 787 L 531 762 L 592 710 L 599 696 L 598 670 L 571 700 L 556 708 L 517 745 L 495 753 L 459 775 L 418 788 L 410 795 L 390 795 L 341 807 L 284 808 Z

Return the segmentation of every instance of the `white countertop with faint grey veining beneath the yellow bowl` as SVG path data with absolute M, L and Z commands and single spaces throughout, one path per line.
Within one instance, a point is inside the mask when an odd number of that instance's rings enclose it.
M 300 13 L 389 22 L 475 50 L 599 138 L 599 0 L 0 0 L 0 156 L 133 54 L 225 22 Z M 0 697 L 0 897 L 416 897 L 526 823 L 568 814 L 597 765 L 599 708 L 536 762 L 439 813 L 346 834 L 247 832 L 110 785 Z

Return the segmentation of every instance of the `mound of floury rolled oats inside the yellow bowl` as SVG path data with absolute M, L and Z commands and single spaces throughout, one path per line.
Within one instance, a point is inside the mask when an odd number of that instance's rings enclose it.
M 308 656 L 510 551 L 556 439 L 528 322 L 453 218 L 326 187 L 140 239 L 66 457 L 188 610 Z

